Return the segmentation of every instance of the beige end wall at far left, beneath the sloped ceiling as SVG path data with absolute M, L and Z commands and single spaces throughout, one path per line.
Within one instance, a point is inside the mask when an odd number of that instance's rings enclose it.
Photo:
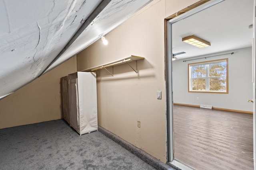
M 72 57 L 0 100 L 0 129 L 61 119 L 60 78 L 76 71 Z

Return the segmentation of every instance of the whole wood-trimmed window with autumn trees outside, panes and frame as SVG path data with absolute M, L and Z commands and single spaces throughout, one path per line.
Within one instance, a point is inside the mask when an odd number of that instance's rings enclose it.
M 228 59 L 188 64 L 188 92 L 228 93 Z

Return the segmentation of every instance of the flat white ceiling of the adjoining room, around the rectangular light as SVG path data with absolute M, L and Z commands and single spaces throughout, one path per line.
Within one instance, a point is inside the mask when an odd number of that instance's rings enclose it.
M 252 46 L 253 0 L 225 0 L 184 20 L 172 24 L 173 53 L 177 59 L 208 55 Z M 182 42 L 182 37 L 196 35 L 211 43 L 198 48 Z

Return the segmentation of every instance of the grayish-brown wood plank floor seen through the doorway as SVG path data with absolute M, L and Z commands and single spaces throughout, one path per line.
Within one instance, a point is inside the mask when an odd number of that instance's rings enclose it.
M 174 158 L 196 170 L 253 170 L 252 114 L 174 105 Z

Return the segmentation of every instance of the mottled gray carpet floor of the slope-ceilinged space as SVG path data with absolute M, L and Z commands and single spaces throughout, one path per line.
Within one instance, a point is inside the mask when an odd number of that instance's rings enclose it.
M 102 133 L 63 120 L 0 129 L 1 170 L 154 170 Z

